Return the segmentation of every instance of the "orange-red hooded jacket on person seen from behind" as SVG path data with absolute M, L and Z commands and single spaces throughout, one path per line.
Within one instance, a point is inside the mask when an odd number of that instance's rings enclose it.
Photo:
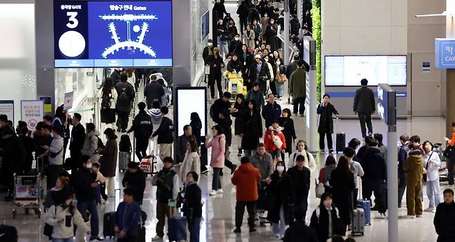
M 237 201 L 257 201 L 257 184 L 261 181 L 261 174 L 251 163 L 241 164 L 231 181 L 236 185 Z

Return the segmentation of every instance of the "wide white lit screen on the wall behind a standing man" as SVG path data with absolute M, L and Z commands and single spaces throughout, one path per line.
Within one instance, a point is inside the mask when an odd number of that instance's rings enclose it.
M 324 60 L 326 86 L 357 86 L 362 79 L 368 85 L 406 85 L 406 56 L 326 56 Z

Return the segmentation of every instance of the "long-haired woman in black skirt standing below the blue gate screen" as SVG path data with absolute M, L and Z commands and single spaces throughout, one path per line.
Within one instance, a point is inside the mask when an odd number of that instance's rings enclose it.
M 106 78 L 100 90 L 101 123 L 115 123 L 115 104 L 117 103 L 117 90 L 110 77 Z

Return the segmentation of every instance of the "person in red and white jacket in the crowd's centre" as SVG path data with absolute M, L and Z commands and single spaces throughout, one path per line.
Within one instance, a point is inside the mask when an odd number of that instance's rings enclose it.
M 272 155 L 272 159 L 274 159 L 275 163 L 281 161 L 280 152 L 286 152 L 286 139 L 281 130 L 283 130 L 283 128 L 279 127 L 278 122 L 273 121 L 272 126 L 266 130 L 266 135 L 264 136 L 266 150 Z

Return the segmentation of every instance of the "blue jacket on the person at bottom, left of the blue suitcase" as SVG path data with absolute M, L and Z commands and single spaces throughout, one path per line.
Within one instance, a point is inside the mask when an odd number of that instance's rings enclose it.
M 128 236 L 136 236 L 138 234 L 141 211 L 139 204 L 135 201 L 129 205 L 121 202 L 117 207 L 117 211 L 115 211 L 114 227 L 118 226 L 120 231 L 127 232 Z

